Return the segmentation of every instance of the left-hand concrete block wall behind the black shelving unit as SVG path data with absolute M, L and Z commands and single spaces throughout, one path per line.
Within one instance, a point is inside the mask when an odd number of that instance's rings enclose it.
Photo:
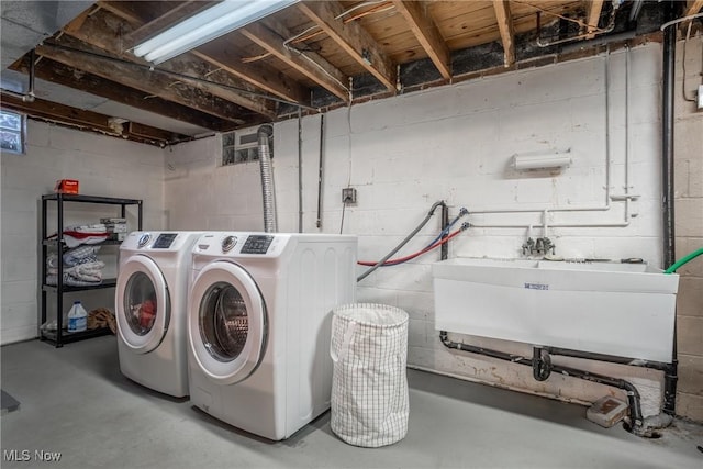
M 1 159 L 1 344 L 37 335 L 41 196 L 53 192 L 56 180 L 64 178 L 78 179 L 83 194 L 143 199 L 145 227 L 155 230 L 164 224 L 160 148 L 29 121 L 26 154 L 2 153 Z M 49 203 L 49 223 L 56 226 L 54 208 L 55 203 Z M 66 223 L 97 223 L 102 216 L 120 213 L 119 206 L 109 205 L 65 208 Z M 135 228 L 136 211 L 130 211 L 130 227 Z M 103 260 L 109 264 L 105 277 L 116 272 L 114 249 L 104 248 Z M 81 293 L 80 298 L 87 301 L 87 308 L 114 310 L 114 291 L 107 289 L 103 293 Z M 68 306 L 70 303 L 66 312 Z

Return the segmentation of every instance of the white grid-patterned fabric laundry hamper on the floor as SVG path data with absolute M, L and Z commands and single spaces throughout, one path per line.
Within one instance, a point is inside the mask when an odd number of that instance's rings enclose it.
M 330 354 L 332 431 L 364 447 L 391 445 L 408 433 L 408 313 L 383 304 L 333 310 Z

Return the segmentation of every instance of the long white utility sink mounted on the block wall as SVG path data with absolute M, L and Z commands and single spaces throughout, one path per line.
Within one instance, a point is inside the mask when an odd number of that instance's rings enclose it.
M 671 362 L 679 276 L 646 264 L 454 258 L 433 265 L 435 327 Z

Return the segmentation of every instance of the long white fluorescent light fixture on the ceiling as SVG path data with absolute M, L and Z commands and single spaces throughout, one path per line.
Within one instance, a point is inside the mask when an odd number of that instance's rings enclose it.
M 225 0 L 134 47 L 134 55 L 160 64 L 231 31 L 276 13 L 298 0 Z

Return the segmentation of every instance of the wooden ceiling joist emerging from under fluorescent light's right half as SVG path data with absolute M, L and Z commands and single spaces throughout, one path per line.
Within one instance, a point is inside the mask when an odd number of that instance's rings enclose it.
M 250 24 L 241 33 L 332 94 L 344 102 L 349 102 L 349 91 L 346 86 L 348 77 L 314 52 L 305 52 L 303 57 L 302 53 L 297 54 L 287 48 L 283 45 L 283 37 L 291 37 L 292 34 L 282 24 L 267 20 Z

